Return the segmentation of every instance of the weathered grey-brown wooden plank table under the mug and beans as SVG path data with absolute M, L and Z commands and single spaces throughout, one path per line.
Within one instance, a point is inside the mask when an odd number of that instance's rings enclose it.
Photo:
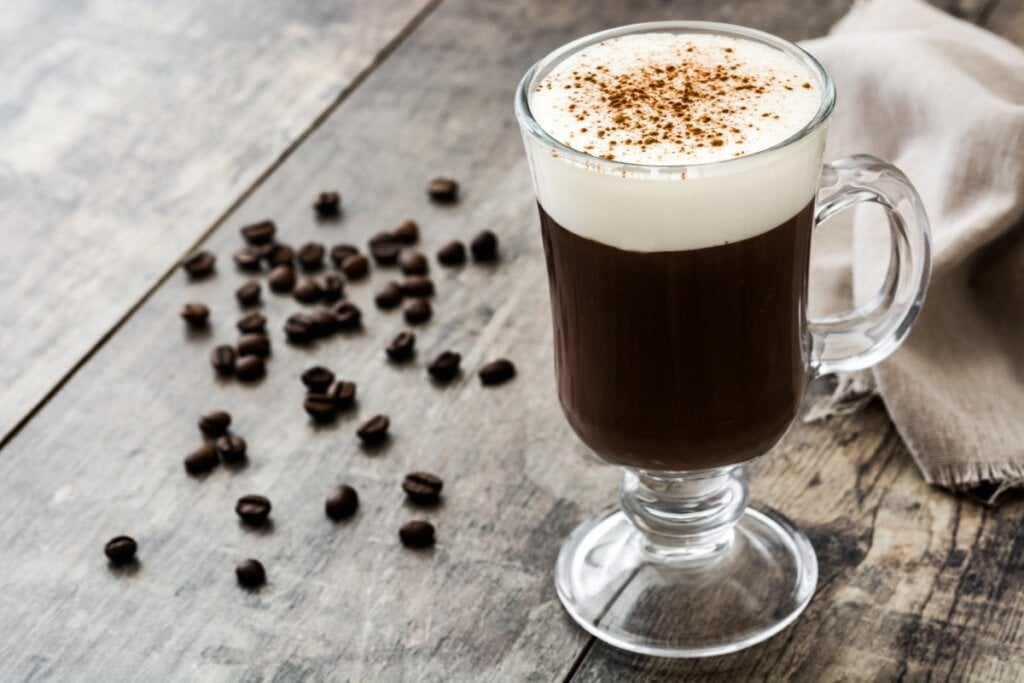
M 557 408 L 544 265 L 512 116 L 527 66 L 617 24 L 707 18 L 791 39 L 824 33 L 848 0 L 721 3 L 309 0 L 303 3 L 14 3 L 0 18 L 0 680 L 1015 680 L 1024 668 L 1024 522 L 929 488 L 884 410 L 798 425 L 757 465 L 753 495 L 806 529 L 817 594 L 797 624 L 744 652 L 672 661 L 615 652 L 575 628 L 552 585 L 566 533 L 609 504 L 617 472 L 587 456 Z M 1024 1 L 939 3 L 1024 42 Z M 446 208 L 428 178 L 463 181 Z M 317 222 L 336 187 L 344 216 Z M 423 249 L 492 228 L 493 267 L 433 266 L 436 314 L 409 367 L 383 361 L 403 327 L 373 305 L 392 271 L 351 284 L 366 331 L 289 346 L 300 308 L 264 291 L 274 352 L 255 385 L 216 380 L 246 279 L 238 228 L 273 218 L 299 245 L 365 244 L 415 217 Z M 202 247 L 218 273 L 189 283 Z M 213 308 L 207 333 L 178 318 Z M 447 387 L 426 359 L 463 354 Z M 511 384 L 474 370 L 509 355 Z M 359 385 L 359 403 L 313 427 L 301 371 Z M 827 387 L 817 384 L 813 392 Z M 225 408 L 251 461 L 203 479 L 182 457 L 198 415 Z M 358 447 L 357 421 L 393 422 Z M 398 487 L 446 481 L 425 512 Z M 323 513 L 342 481 L 362 506 Z M 273 502 L 253 532 L 242 494 Z M 437 546 L 403 549 L 426 516 Z M 103 543 L 130 533 L 140 564 L 113 570 Z M 233 566 L 260 558 L 249 593 Z

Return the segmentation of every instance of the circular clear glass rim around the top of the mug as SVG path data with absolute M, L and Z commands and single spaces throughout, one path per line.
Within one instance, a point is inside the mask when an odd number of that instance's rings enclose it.
M 636 33 L 710 33 L 718 35 L 726 35 L 733 37 L 741 37 L 750 40 L 755 40 L 759 43 L 768 45 L 775 49 L 781 50 L 782 52 L 797 58 L 801 63 L 805 65 L 810 71 L 817 77 L 821 84 L 821 103 L 818 105 L 817 112 L 807 122 L 800 130 L 796 131 L 785 139 L 776 142 L 775 144 L 765 147 L 764 150 L 758 150 L 749 155 L 743 155 L 741 157 L 732 157 L 729 159 L 720 159 L 718 161 L 711 162 L 698 162 L 691 164 L 639 164 L 634 162 L 622 162 L 609 159 L 604 159 L 602 157 L 597 157 L 594 155 L 589 155 L 586 152 L 581 152 L 574 150 L 564 142 L 553 137 L 548 131 L 546 131 L 537 119 L 534 117 L 534 113 L 529 105 L 529 95 L 532 92 L 537 83 L 545 76 L 550 73 L 550 71 L 564 60 L 569 55 L 578 52 L 579 50 L 599 43 L 603 40 L 608 40 L 609 38 L 618 38 L 621 36 L 627 36 Z M 531 66 L 526 73 L 523 75 L 522 79 L 519 81 L 519 85 L 516 87 L 515 96 L 515 115 L 519 122 L 520 129 L 528 133 L 535 139 L 543 142 L 549 147 L 555 150 L 559 155 L 567 157 L 573 161 L 581 163 L 584 166 L 600 166 L 607 168 L 611 171 L 622 171 L 626 173 L 637 173 L 637 172 L 655 172 L 656 174 L 662 173 L 685 173 L 687 169 L 699 168 L 701 171 L 708 169 L 719 168 L 722 166 L 727 166 L 728 164 L 737 164 L 739 162 L 748 161 L 751 159 L 757 159 L 763 155 L 775 152 L 786 147 L 795 142 L 802 140 L 807 137 L 815 130 L 817 130 L 821 125 L 823 125 L 828 117 L 831 116 L 833 109 L 836 106 L 836 84 L 833 83 L 831 77 L 825 68 L 821 65 L 817 58 L 810 52 L 800 47 L 796 43 L 790 42 L 778 36 L 773 36 L 770 33 L 764 31 L 759 31 L 757 29 L 750 29 L 746 27 L 737 26 L 734 24 L 723 24 L 719 22 L 690 22 L 690 20 L 670 20 L 670 22 L 646 22 L 643 24 L 629 24 L 626 26 L 615 27 L 613 29 L 605 29 L 604 31 L 598 31 L 596 33 L 583 36 L 573 41 L 565 43 L 561 47 L 549 52 L 547 55 L 539 59 Z

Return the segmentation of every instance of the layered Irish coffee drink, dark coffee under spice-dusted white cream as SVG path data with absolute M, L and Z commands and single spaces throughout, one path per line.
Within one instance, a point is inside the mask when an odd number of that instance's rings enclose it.
M 587 155 L 526 142 L 559 397 L 602 458 L 710 469 L 792 424 L 824 126 L 793 138 L 820 90 L 792 56 L 711 34 L 613 38 L 538 81 L 538 124 Z

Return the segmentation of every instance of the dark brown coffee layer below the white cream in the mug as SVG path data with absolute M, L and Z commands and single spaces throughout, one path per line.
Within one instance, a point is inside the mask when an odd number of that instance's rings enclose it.
M 685 471 L 778 441 L 806 383 L 813 208 L 739 242 L 637 252 L 580 237 L 541 207 L 559 398 L 591 449 Z

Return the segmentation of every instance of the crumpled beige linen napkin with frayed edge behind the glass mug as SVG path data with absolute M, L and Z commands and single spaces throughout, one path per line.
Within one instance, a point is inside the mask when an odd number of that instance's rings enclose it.
M 989 503 L 1024 486 L 1024 51 L 919 0 L 870 0 L 805 47 L 836 80 L 826 158 L 872 154 L 918 187 L 934 269 L 918 325 L 870 373 L 840 378 L 809 419 L 885 401 L 925 479 Z M 815 236 L 812 303 L 866 300 L 888 237 Z M 846 270 L 848 273 L 849 270 Z

